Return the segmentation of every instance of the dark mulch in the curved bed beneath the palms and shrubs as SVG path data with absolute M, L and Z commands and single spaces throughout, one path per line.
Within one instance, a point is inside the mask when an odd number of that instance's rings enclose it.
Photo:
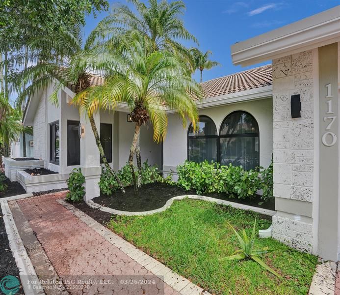
M 196 195 L 196 192 L 194 191 L 185 191 L 183 188 L 178 186 L 159 182 L 143 185 L 137 196 L 134 195 L 132 186 L 127 186 L 125 190 L 125 195 L 123 195 L 123 193 L 118 190 L 115 191 L 112 196 L 101 194 L 100 197 L 94 198 L 93 202 L 117 210 L 136 212 L 154 210 L 163 207 L 166 201 L 176 196 Z M 272 200 L 267 203 L 259 205 L 259 203 L 262 202 L 260 196 L 256 196 L 254 199 L 249 200 L 229 198 L 226 194 L 210 193 L 204 195 L 207 197 L 271 210 L 274 210 L 275 207 L 274 198 L 272 198 Z

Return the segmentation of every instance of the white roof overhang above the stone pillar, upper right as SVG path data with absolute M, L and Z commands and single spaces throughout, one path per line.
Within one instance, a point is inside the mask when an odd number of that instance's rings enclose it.
M 235 65 L 251 65 L 340 41 L 340 5 L 232 45 Z

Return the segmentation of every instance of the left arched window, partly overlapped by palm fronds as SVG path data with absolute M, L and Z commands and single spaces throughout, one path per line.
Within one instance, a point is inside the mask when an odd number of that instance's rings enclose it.
M 194 132 L 192 124 L 188 130 L 188 160 L 196 163 L 204 160 L 217 161 L 218 137 L 216 125 L 207 116 L 200 116 L 198 132 Z

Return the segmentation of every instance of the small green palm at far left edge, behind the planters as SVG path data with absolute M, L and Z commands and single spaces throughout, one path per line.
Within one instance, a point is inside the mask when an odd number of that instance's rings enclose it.
M 8 148 L 18 139 L 22 130 L 20 113 L 12 108 L 4 94 L 0 92 L 0 142 L 3 144 L 5 157 L 9 156 Z

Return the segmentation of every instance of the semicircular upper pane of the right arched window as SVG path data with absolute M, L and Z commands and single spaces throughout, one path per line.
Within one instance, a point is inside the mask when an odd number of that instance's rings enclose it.
M 249 133 L 259 133 L 259 126 L 255 118 L 245 112 L 234 112 L 223 121 L 220 135 Z

